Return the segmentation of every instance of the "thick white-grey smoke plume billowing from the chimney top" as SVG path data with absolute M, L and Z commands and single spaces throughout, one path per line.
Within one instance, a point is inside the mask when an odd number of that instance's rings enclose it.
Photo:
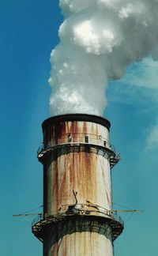
M 51 115 L 103 115 L 107 81 L 158 57 L 158 0 L 60 0 L 65 21 L 51 52 Z

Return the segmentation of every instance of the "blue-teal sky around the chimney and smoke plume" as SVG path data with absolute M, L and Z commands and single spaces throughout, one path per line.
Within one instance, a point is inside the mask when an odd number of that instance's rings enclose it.
M 43 254 L 31 232 L 32 217 L 12 215 L 43 204 L 43 170 L 36 150 L 42 141 L 41 122 L 50 115 L 49 58 L 61 22 L 58 0 L 0 0 L 2 256 Z M 125 230 L 115 241 L 115 256 L 156 256 L 158 251 L 157 70 L 157 62 L 145 58 L 107 88 L 104 116 L 111 121 L 111 142 L 122 156 L 112 171 L 114 208 L 145 210 L 122 214 Z

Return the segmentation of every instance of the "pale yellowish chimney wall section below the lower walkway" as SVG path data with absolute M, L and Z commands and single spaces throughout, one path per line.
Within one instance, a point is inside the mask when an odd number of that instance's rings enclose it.
M 57 232 L 54 232 L 49 228 L 45 233 L 47 239 L 43 247 L 44 255 L 113 255 L 111 228 L 107 224 L 100 224 L 97 220 L 70 220 L 59 223 L 56 230 Z

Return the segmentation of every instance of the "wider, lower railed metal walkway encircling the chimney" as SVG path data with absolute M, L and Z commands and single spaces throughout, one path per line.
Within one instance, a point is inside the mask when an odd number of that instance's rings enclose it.
M 69 228 L 66 229 L 66 226 Z M 32 233 L 42 242 L 48 230 L 58 233 L 58 239 L 68 232 L 96 232 L 101 235 L 110 235 L 112 241 L 118 238 L 124 228 L 123 221 L 119 216 L 108 216 L 107 214 L 94 214 L 77 210 L 58 215 L 38 216 L 32 222 Z M 108 230 L 108 232 L 107 232 Z M 57 232 L 58 231 L 58 232 Z

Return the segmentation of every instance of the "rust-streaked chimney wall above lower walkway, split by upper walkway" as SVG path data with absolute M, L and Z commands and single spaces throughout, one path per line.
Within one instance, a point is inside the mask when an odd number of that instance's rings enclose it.
M 87 135 L 88 134 L 88 135 Z M 64 141 L 77 141 L 78 137 L 88 141 L 104 139 L 109 141 L 108 130 L 92 122 L 60 122 L 47 127 L 44 143 L 56 145 Z M 111 209 L 111 169 L 109 160 L 92 152 L 70 152 L 55 157 L 50 152 L 44 164 L 44 213 L 54 213 L 62 205 L 77 201 Z

